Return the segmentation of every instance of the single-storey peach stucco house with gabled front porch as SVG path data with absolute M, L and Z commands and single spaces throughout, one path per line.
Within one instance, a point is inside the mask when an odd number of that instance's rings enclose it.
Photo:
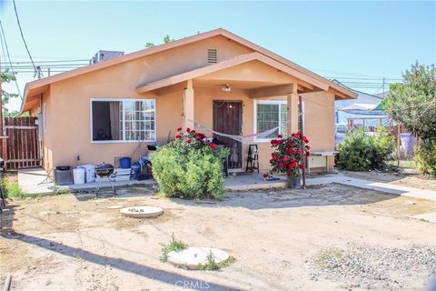
M 267 169 L 270 139 L 301 126 L 299 95 L 312 152 L 332 151 L 334 101 L 355 93 L 216 29 L 28 83 L 22 111 L 42 118 L 46 170 L 74 165 L 76 156 L 89 164 L 135 159 L 138 140 L 163 145 L 193 122 L 234 135 L 282 125 L 248 143 L 224 141 L 238 155 L 233 168 L 244 169 L 248 146 L 256 144 Z

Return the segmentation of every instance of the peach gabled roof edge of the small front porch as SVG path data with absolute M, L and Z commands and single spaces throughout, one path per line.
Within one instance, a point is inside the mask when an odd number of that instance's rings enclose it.
M 274 61 L 271 57 L 268 57 L 266 55 L 262 55 L 260 53 L 250 53 L 246 55 L 238 55 L 236 57 L 233 57 L 231 59 L 225 60 L 223 62 L 217 63 L 215 65 L 207 65 L 203 66 L 197 69 L 194 69 L 192 71 L 184 72 L 182 74 L 173 75 L 170 77 L 163 78 L 161 80 L 154 81 L 152 83 L 149 83 L 147 85 L 141 86 L 136 88 L 136 91 L 139 93 L 149 92 L 155 89 L 162 88 L 167 85 L 175 85 L 178 83 L 181 83 L 183 81 L 187 81 L 189 79 L 193 79 L 196 77 L 199 77 L 201 75 L 210 74 L 213 72 L 217 72 L 223 69 L 226 69 L 228 67 L 231 67 L 233 65 L 241 65 L 244 63 L 252 62 L 252 61 L 260 61 L 263 64 L 271 65 L 272 67 L 275 67 L 278 70 L 281 70 L 284 73 L 287 73 L 289 75 L 293 75 L 298 79 L 301 79 L 304 82 L 307 82 L 311 85 L 315 85 L 322 90 L 328 90 L 329 85 L 326 85 L 314 78 L 312 78 L 309 75 L 304 75 L 301 72 L 293 69 L 292 67 L 289 67 L 287 65 L 282 65 L 282 63 L 279 63 L 277 61 Z

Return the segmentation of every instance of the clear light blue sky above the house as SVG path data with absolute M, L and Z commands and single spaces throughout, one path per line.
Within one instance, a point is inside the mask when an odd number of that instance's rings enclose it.
M 436 2 L 35 2 L 17 1 L 35 61 L 133 52 L 146 42 L 223 27 L 314 72 L 401 78 L 436 59 Z M 28 61 L 12 2 L 0 17 L 13 61 Z M 3 55 L 2 55 L 3 56 Z M 3 58 L 3 57 L 2 57 Z M 17 75 L 21 90 L 32 74 Z M 14 86 L 6 87 L 15 91 Z M 374 93 L 376 88 L 362 88 Z M 379 93 L 381 91 L 379 90 Z M 20 102 L 11 103 L 17 108 Z

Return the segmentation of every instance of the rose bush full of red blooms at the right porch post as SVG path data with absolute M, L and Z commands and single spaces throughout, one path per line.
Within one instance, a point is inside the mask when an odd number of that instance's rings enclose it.
M 309 140 L 301 132 L 287 138 L 282 135 L 277 137 L 271 141 L 274 151 L 270 159 L 270 173 L 286 174 L 288 187 L 297 188 L 300 186 L 300 172 L 304 168 L 304 156 L 311 155 L 311 147 L 307 145 Z

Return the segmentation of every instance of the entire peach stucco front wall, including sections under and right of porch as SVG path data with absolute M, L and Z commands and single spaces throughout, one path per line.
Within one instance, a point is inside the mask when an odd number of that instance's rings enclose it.
M 223 36 L 215 36 L 202 42 L 144 56 L 50 85 L 42 99 L 46 110 L 45 169 L 48 171 L 54 166 L 75 165 L 76 156 L 80 156 L 80 163 L 84 164 L 103 162 L 112 164 L 115 156 L 132 156 L 134 159 L 138 157 L 136 142 L 91 142 L 90 100 L 92 98 L 155 99 L 156 141 L 158 144 L 165 144 L 168 136 L 173 138 L 175 128 L 183 125 L 183 92 L 150 97 L 137 94 L 135 88 L 169 75 L 207 65 L 208 48 L 218 50 L 218 61 L 251 52 L 250 49 L 228 41 Z M 274 74 L 277 75 L 277 72 Z M 261 77 L 259 80 L 264 78 Z M 274 77 L 268 81 L 277 80 L 279 79 Z M 279 81 L 290 80 L 285 77 Z M 305 102 L 305 135 L 311 140 L 312 152 L 332 150 L 334 148 L 334 96 L 323 92 L 304 95 L 304 97 L 308 100 Z M 232 92 L 224 93 L 220 88 L 195 88 L 194 86 L 195 121 L 212 128 L 213 100 L 229 99 L 243 101 L 243 134 L 253 133 L 254 100 L 250 98 L 249 91 L 242 89 L 233 88 Z M 285 100 L 285 97 L 271 99 Z M 258 146 L 260 167 L 263 170 L 268 169 L 272 152 L 270 143 L 258 143 Z M 144 155 L 146 146 L 143 146 L 142 152 Z M 243 168 L 247 152 L 248 144 L 243 145 Z

